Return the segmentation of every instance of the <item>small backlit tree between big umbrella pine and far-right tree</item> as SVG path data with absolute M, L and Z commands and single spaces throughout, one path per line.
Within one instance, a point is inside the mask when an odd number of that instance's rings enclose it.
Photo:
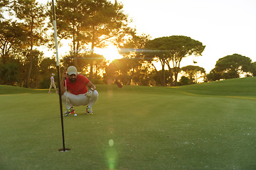
M 198 79 L 206 74 L 206 70 L 203 67 L 193 65 L 182 67 L 181 70 L 188 76 L 189 84 L 197 83 Z

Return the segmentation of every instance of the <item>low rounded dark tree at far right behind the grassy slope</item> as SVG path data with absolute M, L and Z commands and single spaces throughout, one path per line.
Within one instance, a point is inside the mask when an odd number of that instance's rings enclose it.
M 252 60 L 238 54 L 220 58 L 215 64 L 215 72 L 221 75 L 221 79 L 238 78 L 242 73 L 253 71 Z

